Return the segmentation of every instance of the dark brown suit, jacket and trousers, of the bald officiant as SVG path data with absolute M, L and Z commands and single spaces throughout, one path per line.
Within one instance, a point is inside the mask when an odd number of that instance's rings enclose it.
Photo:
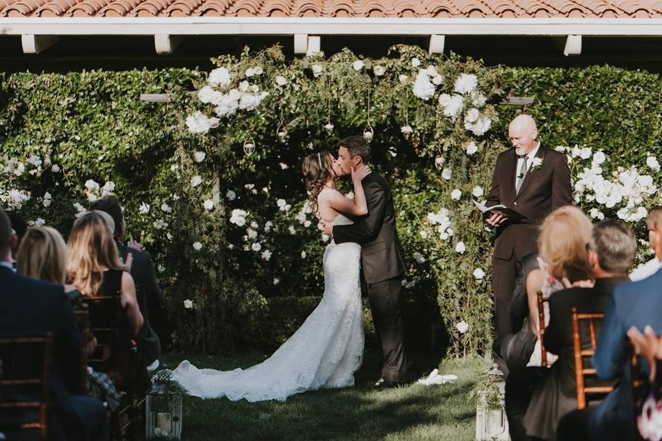
M 497 337 L 512 334 L 509 303 L 517 270 L 524 256 L 536 252 L 541 223 L 554 209 L 572 204 L 570 170 L 565 154 L 541 145 L 536 158 L 543 162 L 537 168 L 530 165 L 519 192 L 515 189 L 515 150 L 501 152 L 494 166 L 487 205 L 503 204 L 526 216 L 522 222 L 507 220 L 496 228 L 492 290 Z

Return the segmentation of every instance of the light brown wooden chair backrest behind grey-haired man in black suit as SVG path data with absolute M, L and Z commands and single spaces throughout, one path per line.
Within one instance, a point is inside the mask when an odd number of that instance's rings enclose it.
M 596 312 L 592 314 L 580 314 L 576 308 L 572 308 L 572 342 L 574 346 L 574 374 L 576 377 L 576 391 L 577 391 L 577 409 L 585 409 L 586 396 L 589 393 L 610 393 L 613 386 L 593 386 L 588 387 L 586 380 L 589 376 L 595 376 L 595 369 L 593 367 L 584 366 L 584 358 L 590 358 L 595 353 L 597 346 L 596 338 L 596 324 L 604 318 L 604 314 Z M 590 348 L 582 349 L 582 334 L 581 322 L 588 323 L 588 333 Z

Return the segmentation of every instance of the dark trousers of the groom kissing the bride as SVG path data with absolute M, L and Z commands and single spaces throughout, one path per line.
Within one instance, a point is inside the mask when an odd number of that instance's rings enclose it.
M 405 333 L 400 307 L 400 276 L 377 283 L 368 283 L 368 300 L 372 321 L 381 342 L 383 365 L 381 376 L 385 381 L 401 382 L 407 376 Z

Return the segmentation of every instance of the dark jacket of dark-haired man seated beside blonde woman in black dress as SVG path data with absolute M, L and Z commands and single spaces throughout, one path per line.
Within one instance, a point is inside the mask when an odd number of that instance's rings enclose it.
M 117 249 L 123 259 L 126 259 L 128 253 L 133 256 L 131 276 L 136 285 L 138 306 L 143 315 L 143 326 L 138 332 L 139 347 L 143 355 L 143 363 L 147 366 L 161 356 L 161 340 L 150 324 L 150 311 L 163 307 L 163 291 L 157 282 L 154 263 L 148 252 L 129 248 L 119 241 Z

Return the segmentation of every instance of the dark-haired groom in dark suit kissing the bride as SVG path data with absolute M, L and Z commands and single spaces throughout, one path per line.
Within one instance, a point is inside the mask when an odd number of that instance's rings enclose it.
M 341 139 L 337 165 L 343 175 L 370 162 L 370 144 L 363 136 Z M 395 227 L 395 209 L 388 183 L 372 172 L 362 181 L 368 214 L 354 218 L 353 225 L 325 225 L 335 243 L 361 245 L 361 265 L 368 284 L 372 321 L 381 341 L 383 367 L 375 385 L 397 387 L 405 380 L 407 360 L 400 310 L 400 290 L 405 259 Z

